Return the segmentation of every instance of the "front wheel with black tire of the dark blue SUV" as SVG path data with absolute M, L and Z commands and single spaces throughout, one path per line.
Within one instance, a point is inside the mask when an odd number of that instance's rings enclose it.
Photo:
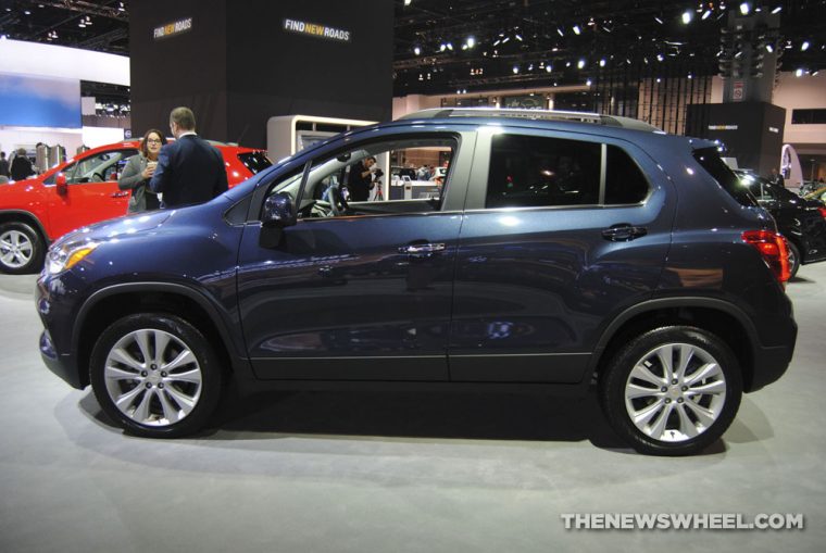
M 129 315 L 108 327 L 92 350 L 89 379 L 103 412 L 145 438 L 178 438 L 201 429 L 218 404 L 223 380 L 204 336 L 165 313 Z M 124 400 L 121 406 L 113 397 Z

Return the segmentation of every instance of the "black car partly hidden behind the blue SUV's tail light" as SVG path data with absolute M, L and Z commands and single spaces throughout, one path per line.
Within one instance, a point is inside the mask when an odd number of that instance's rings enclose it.
M 801 198 L 753 173 L 735 173 L 772 214 L 777 228 L 789 241 L 791 276 L 797 275 L 800 265 L 826 261 L 826 206 L 823 202 Z

